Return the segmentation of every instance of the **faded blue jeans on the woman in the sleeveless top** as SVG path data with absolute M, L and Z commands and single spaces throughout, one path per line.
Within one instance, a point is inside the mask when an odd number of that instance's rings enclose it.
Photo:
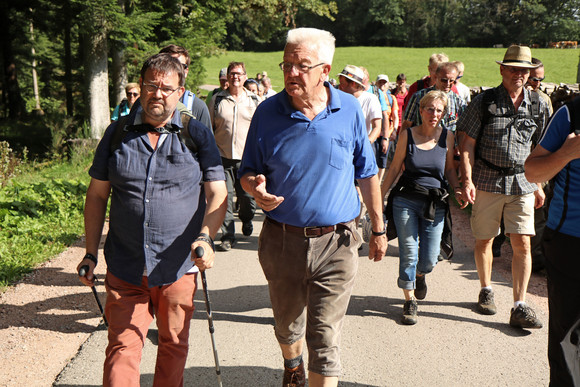
M 415 289 L 415 276 L 431 273 L 437 264 L 445 206 L 437 205 L 435 220 L 423 218 L 427 200 L 396 196 L 393 220 L 399 238 L 399 278 L 401 289 Z

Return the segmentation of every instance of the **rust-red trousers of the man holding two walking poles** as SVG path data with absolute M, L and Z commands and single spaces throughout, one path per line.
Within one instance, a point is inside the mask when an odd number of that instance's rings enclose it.
M 155 316 L 159 343 L 153 386 L 183 386 L 197 274 L 186 274 L 170 285 L 148 288 L 147 277 L 136 286 L 107 272 L 105 287 L 109 345 L 103 385 L 139 386 L 141 353 Z

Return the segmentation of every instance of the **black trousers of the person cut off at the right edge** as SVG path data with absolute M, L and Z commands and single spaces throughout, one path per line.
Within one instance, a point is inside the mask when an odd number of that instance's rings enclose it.
M 550 386 L 573 386 L 560 343 L 580 318 L 580 238 L 544 230 L 548 273 Z

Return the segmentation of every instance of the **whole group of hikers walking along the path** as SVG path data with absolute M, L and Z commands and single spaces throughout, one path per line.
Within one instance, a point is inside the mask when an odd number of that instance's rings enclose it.
M 580 199 L 568 195 L 580 191 L 580 140 L 570 130 L 580 122 L 573 118 L 578 104 L 558 110 L 547 126 L 546 100 L 526 88 L 530 73 L 541 68 L 528 47 L 509 47 L 497 61 L 501 84 L 469 104 L 458 82 L 463 64 L 442 54 L 431 57 L 429 76 L 409 91 L 400 74 L 391 93 L 386 75 L 370 85 L 368 72 L 353 65 L 336 75 L 334 87 L 334 49 L 329 32 L 290 30 L 279 65 L 283 91 L 257 95 L 244 63 L 231 62 L 207 104 L 185 90 L 187 50 L 171 45 L 143 64 L 89 170 L 86 255 L 78 267 L 89 286 L 111 201 L 103 384 L 139 385 L 141 351 L 155 317 L 153 383 L 183 385 L 197 274 L 213 267 L 220 228 L 218 250 L 235 247 L 236 206 L 246 236 L 256 208 L 266 215 L 258 256 L 283 357 L 283 386 L 306 384 L 304 344 L 309 385 L 338 384 L 339 339 L 363 215 L 370 260 L 384 257 L 387 237 L 399 238 L 401 321 L 417 323 L 427 275 L 441 255 L 453 254 L 451 193 L 462 208 L 472 204 L 477 310 L 497 311 L 492 242 L 503 224 L 513 248 L 509 324 L 541 328 L 525 302 L 530 236 L 534 209 L 545 200 L 542 182 L 558 174 L 544 231 L 549 361 L 551 383 L 573 385 L 578 367 L 568 365 L 561 342 L 579 329 L 580 261 L 573 251 L 580 247 L 574 227 Z

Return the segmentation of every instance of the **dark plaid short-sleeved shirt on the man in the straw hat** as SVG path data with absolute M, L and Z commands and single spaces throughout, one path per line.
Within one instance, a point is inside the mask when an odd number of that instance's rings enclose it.
M 481 158 L 501 168 L 523 166 L 546 126 L 549 113 L 546 102 L 539 98 L 538 122 L 532 119 L 530 91 L 524 88 L 524 99 L 517 112 L 503 85 L 495 88 L 496 101 L 489 105 L 489 122 L 483 126 L 480 143 L 476 144 L 478 155 L 473 165 L 473 184 L 482 191 L 504 195 L 523 195 L 538 189 L 526 180 L 524 173 L 501 176 L 489 168 Z M 457 123 L 457 130 L 477 140 L 482 129 L 483 93 L 469 104 Z

